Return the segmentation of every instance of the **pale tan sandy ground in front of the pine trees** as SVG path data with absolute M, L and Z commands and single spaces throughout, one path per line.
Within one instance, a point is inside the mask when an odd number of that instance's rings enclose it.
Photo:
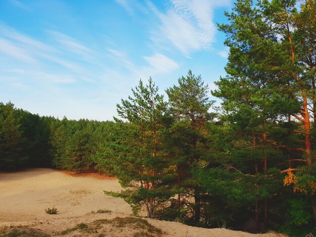
M 22 225 L 40 233 L 58 235 L 76 224 L 91 223 L 92 227 L 98 228 L 97 232 L 79 229 L 64 236 L 100 236 L 100 232 L 104 236 L 133 236 L 135 228 L 118 227 L 115 222 L 111 222 L 116 217 L 131 218 L 130 206 L 122 199 L 104 195 L 103 190 L 120 191 L 121 186 L 116 179 L 104 175 L 74 175 L 47 168 L 0 172 L 0 228 Z M 46 214 L 45 209 L 53 206 L 59 210 L 58 214 Z M 112 212 L 91 213 L 98 209 Z M 99 219 L 109 221 L 96 226 L 95 221 Z M 148 222 L 162 229 L 163 233 L 158 235 L 163 236 L 284 236 L 276 233 L 250 234 L 223 228 L 197 228 L 168 221 Z

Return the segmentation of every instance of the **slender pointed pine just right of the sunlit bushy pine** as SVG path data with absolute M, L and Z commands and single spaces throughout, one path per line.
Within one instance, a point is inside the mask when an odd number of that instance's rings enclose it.
M 194 198 L 194 219 L 200 221 L 200 188 L 194 182 L 192 170 L 200 166 L 203 156 L 203 127 L 212 116 L 208 112 L 213 102 L 209 101 L 208 85 L 204 85 L 201 76 L 192 71 L 178 80 L 179 85 L 166 90 L 169 97 L 169 112 L 175 123 L 170 129 L 171 144 L 176 146 L 174 163 L 177 166 L 178 186 Z M 181 140 L 181 142 L 180 142 Z M 180 206 L 180 193 L 178 194 Z

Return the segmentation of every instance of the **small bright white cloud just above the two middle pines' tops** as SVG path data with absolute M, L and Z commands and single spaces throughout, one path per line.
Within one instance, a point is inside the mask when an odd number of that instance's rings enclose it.
M 155 53 L 152 56 L 144 56 L 143 58 L 153 69 L 156 69 L 157 72 L 168 73 L 179 68 L 179 65 L 175 61 L 161 53 Z

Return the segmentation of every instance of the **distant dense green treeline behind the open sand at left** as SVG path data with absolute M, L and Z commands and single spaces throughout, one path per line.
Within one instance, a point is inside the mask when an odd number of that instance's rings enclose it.
M 0 103 L 0 170 L 97 168 L 91 155 L 109 140 L 113 127 L 110 121 L 59 120 Z

